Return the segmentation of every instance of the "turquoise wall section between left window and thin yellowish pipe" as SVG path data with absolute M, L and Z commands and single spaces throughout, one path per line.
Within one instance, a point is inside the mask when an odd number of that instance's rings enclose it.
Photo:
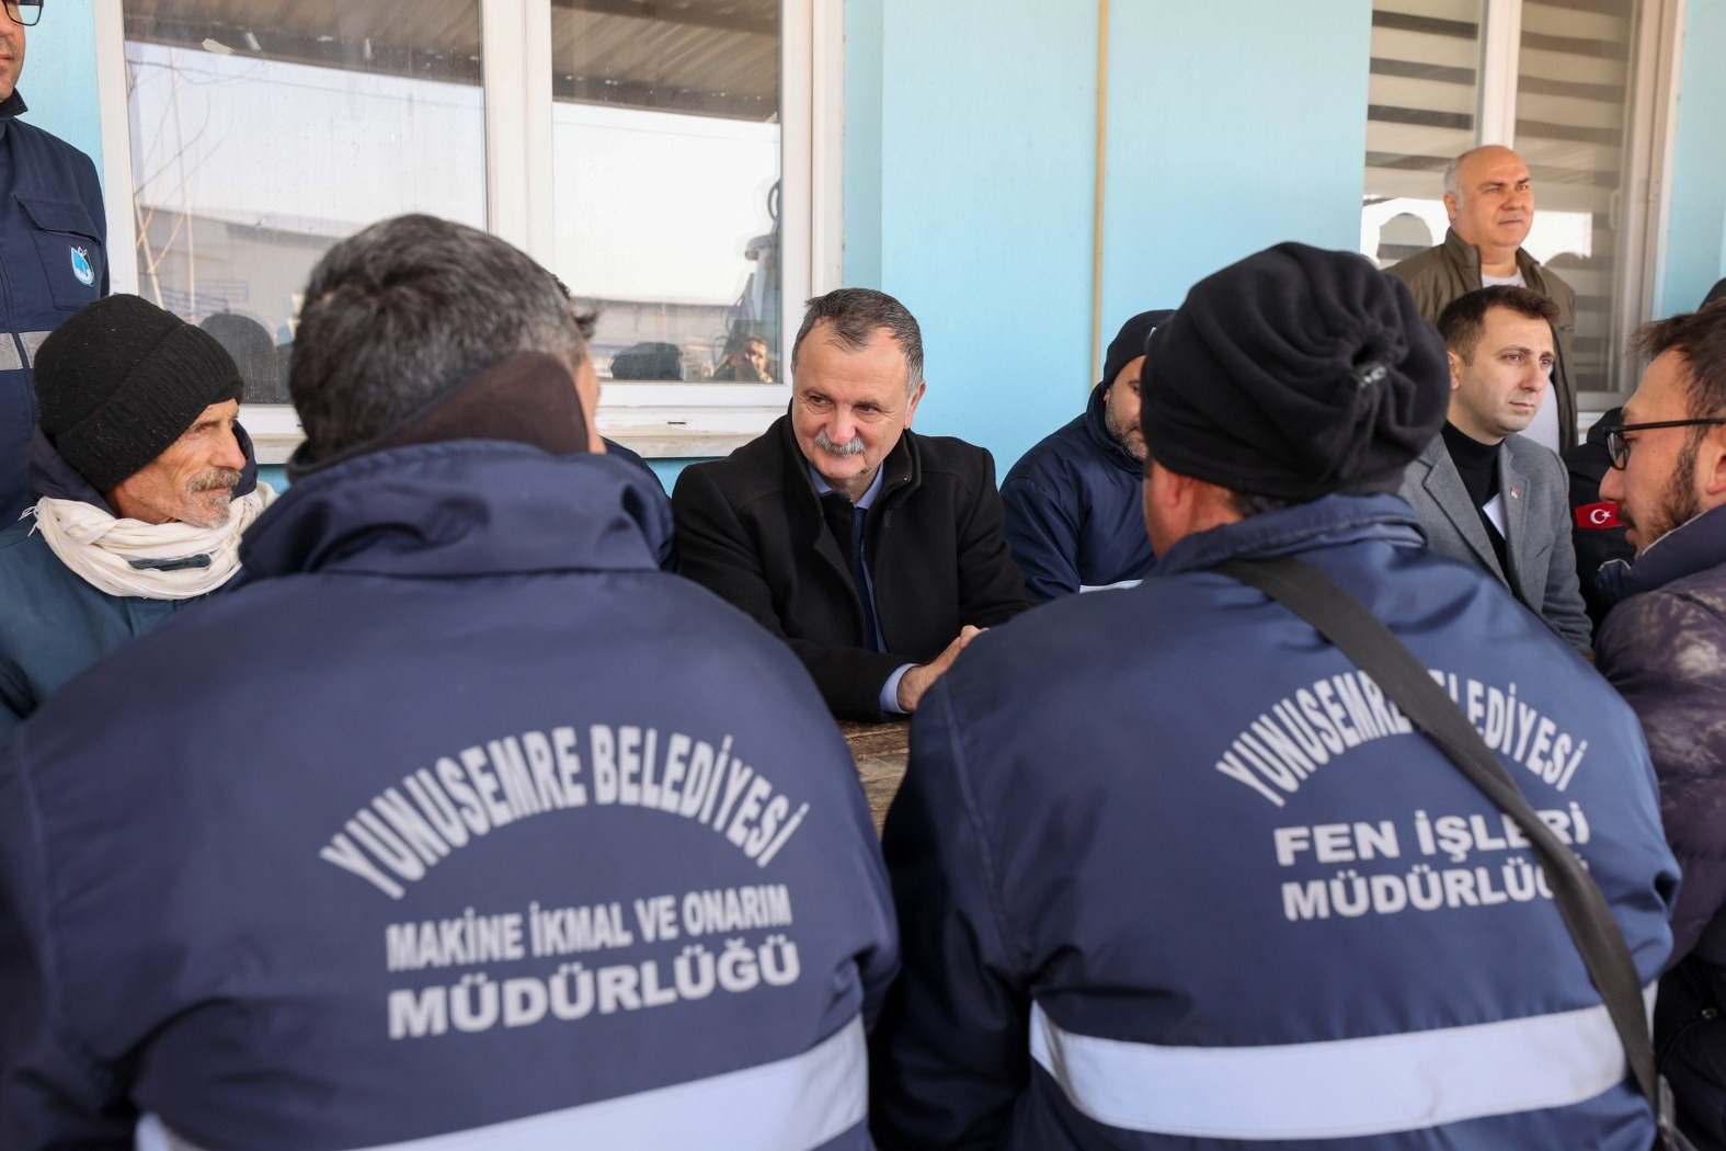
M 847 135 L 847 188 L 879 169 L 879 193 L 846 204 L 846 280 L 879 269 L 923 328 L 917 428 L 982 443 L 1005 471 L 1079 411 L 1089 374 L 1096 9 L 861 3 L 880 52 L 847 48 L 847 95 L 879 91 L 880 121 L 865 110 Z

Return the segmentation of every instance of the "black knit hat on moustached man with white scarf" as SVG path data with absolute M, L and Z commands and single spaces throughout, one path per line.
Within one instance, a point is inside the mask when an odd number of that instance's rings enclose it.
M 238 400 L 240 369 L 207 331 L 136 295 L 110 295 L 36 350 L 36 423 L 97 492 L 161 456 L 211 404 Z

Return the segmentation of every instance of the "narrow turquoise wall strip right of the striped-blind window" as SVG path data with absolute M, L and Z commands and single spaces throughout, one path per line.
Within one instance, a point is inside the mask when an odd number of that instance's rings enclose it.
M 1688 0 L 1672 143 L 1662 314 L 1688 312 L 1726 276 L 1726 0 Z

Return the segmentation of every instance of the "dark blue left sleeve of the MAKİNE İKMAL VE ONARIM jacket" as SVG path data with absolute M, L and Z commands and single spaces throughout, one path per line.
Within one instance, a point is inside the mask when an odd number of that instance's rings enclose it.
M 54 880 L 19 742 L 0 745 L 0 1148 L 126 1151 L 136 1113 L 64 1028 L 47 911 Z

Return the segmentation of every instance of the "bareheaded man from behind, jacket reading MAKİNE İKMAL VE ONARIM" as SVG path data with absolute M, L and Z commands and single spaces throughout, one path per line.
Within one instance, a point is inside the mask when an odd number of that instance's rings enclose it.
M 502 240 L 318 264 L 250 578 L 0 751 L 0 1146 L 866 1146 L 856 771 L 595 390 Z

